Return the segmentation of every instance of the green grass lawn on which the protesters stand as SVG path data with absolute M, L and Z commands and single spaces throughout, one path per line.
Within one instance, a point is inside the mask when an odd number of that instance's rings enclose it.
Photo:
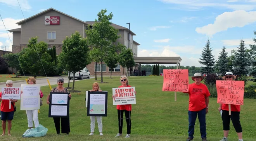
M 58 136 L 55 131 L 54 121 L 48 117 L 48 105 L 46 97 L 50 92 L 48 86 L 41 87 L 44 93 L 43 105 L 38 114 L 39 123 L 48 128 L 47 136 L 42 138 L 25 138 L 22 134 L 28 129 L 25 110 L 19 110 L 20 103 L 17 102 L 17 112 L 12 121 L 12 137 L 0 137 L 0 140 L 11 141 L 185 141 L 188 131 L 188 102 L 189 97 L 184 93 L 177 93 L 177 101 L 174 101 L 174 92 L 162 92 L 163 77 L 140 76 L 130 77 L 129 84 L 134 86 L 137 95 L 136 103 L 132 105 L 131 112 L 131 138 L 125 139 L 126 122 L 123 126 L 123 137 L 114 138 L 118 133 L 118 116 L 116 105 L 112 104 L 112 88 L 120 85 L 119 77 L 103 78 L 100 83 L 102 90 L 108 91 L 107 117 L 102 118 L 103 134 L 99 136 L 97 122 L 95 122 L 95 133 L 90 134 L 90 117 L 86 116 L 85 91 L 92 89 L 94 79 L 75 82 L 75 90 L 80 93 L 71 93 L 70 101 L 70 128 L 69 135 Z M 66 80 L 67 81 L 67 80 Z M 100 82 L 99 80 L 97 82 Z M 192 80 L 190 79 L 190 82 Z M 71 83 L 72 84 L 72 83 Z M 52 85 L 55 87 L 57 85 Z M 71 85 L 72 86 L 72 85 Z M 67 84 L 64 84 L 67 87 Z M 244 141 L 256 141 L 256 112 L 255 99 L 244 99 L 241 106 L 240 122 L 242 124 Z M 217 99 L 210 98 L 209 113 L 206 115 L 207 137 L 209 141 L 219 141 L 223 137 L 223 127 L 220 113 L 218 112 Z M 230 124 L 229 141 L 238 141 L 232 123 Z M 195 124 L 194 141 L 201 141 L 198 119 Z

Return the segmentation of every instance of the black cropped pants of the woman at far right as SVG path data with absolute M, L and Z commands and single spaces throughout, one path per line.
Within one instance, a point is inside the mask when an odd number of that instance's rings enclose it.
M 231 115 L 228 114 L 228 110 L 222 110 L 222 123 L 223 123 L 223 130 L 228 131 L 230 130 L 230 119 L 232 120 L 233 126 L 237 133 L 242 132 L 242 126 L 240 124 L 240 112 L 233 112 L 231 111 Z

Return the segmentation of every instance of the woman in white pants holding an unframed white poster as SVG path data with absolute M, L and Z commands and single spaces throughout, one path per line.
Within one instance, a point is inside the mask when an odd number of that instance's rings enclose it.
M 29 77 L 28 78 L 28 84 L 33 85 L 36 84 L 36 79 L 34 77 Z M 21 91 L 21 94 L 23 92 Z M 43 92 L 40 90 L 39 92 L 40 98 L 43 97 Z M 39 121 L 38 121 L 38 109 L 35 110 L 26 110 L 26 114 L 28 117 L 28 127 L 29 129 L 33 128 L 33 121 L 35 123 L 35 128 L 39 126 Z M 33 119 L 33 121 L 32 121 Z

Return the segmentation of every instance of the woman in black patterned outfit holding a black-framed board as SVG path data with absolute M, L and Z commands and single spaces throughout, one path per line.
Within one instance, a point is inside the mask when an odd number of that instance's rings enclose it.
M 64 79 L 58 78 L 57 79 L 58 86 L 55 88 L 52 88 L 51 92 L 63 92 L 68 93 L 69 91 L 67 88 L 63 87 Z M 50 94 L 47 96 L 47 104 L 50 104 L 49 101 Z M 71 99 L 71 95 L 69 94 L 69 99 Z M 61 133 L 63 134 L 69 134 L 70 133 L 70 126 L 69 126 L 69 117 L 53 117 L 54 124 L 56 128 L 57 134 L 60 134 L 60 120 L 61 120 Z

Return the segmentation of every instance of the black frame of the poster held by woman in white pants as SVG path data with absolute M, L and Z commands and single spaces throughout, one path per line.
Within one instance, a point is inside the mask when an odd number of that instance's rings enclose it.
M 104 114 L 90 114 L 90 95 L 91 94 L 101 94 L 101 95 L 105 95 L 105 112 Z M 87 101 L 87 116 L 102 116 L 102 117 L 106 117 L 107 116 L 107 91 L 102 91 L 102 92 L 99 92 L 99 91 L 88 91 L 88 97 L 87 97 L 88 100 Z

